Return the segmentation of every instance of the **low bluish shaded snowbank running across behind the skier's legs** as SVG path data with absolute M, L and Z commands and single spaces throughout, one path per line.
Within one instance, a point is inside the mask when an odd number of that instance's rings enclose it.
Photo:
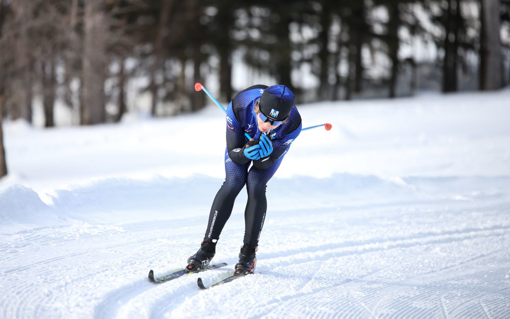
M 57 190 L 53 208 L 61 218 L 96 223 L 167 220 L 207 216 L 222 178 L 155 176 L 148 180 L 105 178 L 83 187 Z M 318 178 L 273 178 L 266 195 L 268 211 L 324 207 L 388 205 L 409 201 L 505 200 L 510 177 L 406 177 L 337 173 Z M 238 195 L 234 212 L 243 212 L 247 196 Z M 103 214 L 107 210 L 109 214 Z

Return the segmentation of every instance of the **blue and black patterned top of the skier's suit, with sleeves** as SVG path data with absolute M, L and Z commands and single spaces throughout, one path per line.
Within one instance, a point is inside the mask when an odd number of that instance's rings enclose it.
M 228 104 L 226 110 L 226 144 L 228 156 L 236 164 L 246 164 L 250 160 L 241 152 L 241 148 L 248 142 L 245 132 L 254 140 L 261 135 L 257 124 L 257 114 L 254 112 L 255 101 L 262 96 L 267 88 L 266 85 L 255 85 L 238 93 Z M 264 170 L 270 167 L 282 157 L 289 149 L 290 143 L 301 132 L 301 116 L 295 105 L 289 114 L 289 118 L 275 129 L 267 132 L 272 139 L 273 152 L 269 158 L 261 158 L 253 161 L 253 167 Z

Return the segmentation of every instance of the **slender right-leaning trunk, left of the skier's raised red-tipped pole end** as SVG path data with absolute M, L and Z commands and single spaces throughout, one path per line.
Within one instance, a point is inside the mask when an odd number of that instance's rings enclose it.
M 166 38 L 167 34 L 167 24 L 168 17 L 170 15 L 170 9 L 172 5 L 172 0 L 164 0 L 163 8 L 160 12 L 159 16 L 159 24 L 156 35 L 156 42 L 154 43 L 154 52 L 152 54 L 154 58 L 154 63 L 152 63 L 150 67 L 150 84 L 149 91 L 151 95 L 150 101 L 150 114 L 152 116 L 156 116 L 157 106 L 158 106 L 158 84 L 156 83 L 156 72 L 158 69 L 161 69 L 163 63 L 163 40 Z

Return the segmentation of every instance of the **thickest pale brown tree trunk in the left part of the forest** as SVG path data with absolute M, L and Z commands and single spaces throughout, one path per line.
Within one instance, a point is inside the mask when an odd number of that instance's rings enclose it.
M 108 27 L 102 0 L 87 0 L 84 15 L 82 124 L 104 123 L 106 37 Z

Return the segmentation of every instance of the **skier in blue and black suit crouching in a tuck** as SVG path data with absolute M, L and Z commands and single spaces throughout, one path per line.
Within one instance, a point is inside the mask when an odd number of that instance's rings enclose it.
M 246 184 L 244 245 L 234 274 L 253 273 L 257 261 L 255 252 L 266 216 L 266 184 L 300 132 L 301 116 L 294 105 L 294 94 L 286 86 L 255 85 L 238 93 L 228 104 L 226 178 L 211 206 L 200 249 L 188 259 L 186 268 L 189 271 L 204 268 L 211 262 L 221 230 L 232 214 L 234 201 Z M 251 137 L 249 141 L 245 133 Z

